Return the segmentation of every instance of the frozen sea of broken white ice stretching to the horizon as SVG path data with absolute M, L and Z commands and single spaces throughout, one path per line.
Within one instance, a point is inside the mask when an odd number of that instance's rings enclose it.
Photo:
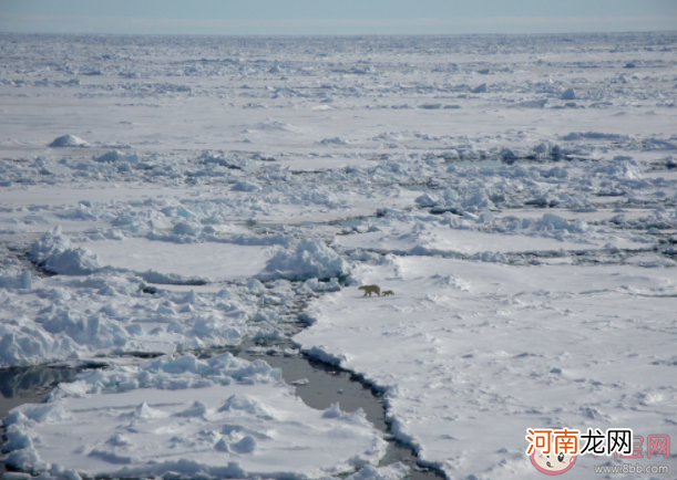
M 0 34 L 0 382 L 80 371 L 4 479 L 538 479 L 543 428 L 676 478 L 676 101 L 675 32 Z

